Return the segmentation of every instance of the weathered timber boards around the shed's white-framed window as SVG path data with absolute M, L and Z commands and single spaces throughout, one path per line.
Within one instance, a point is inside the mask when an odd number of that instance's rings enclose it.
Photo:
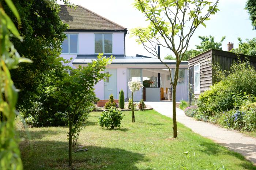
M 200 63 L 200 93 L 209 89 L 212 85 L 212 50 L 207 50 L 191 59 L 188 59 L 188 67 L 193 67 Z M 194 94 L 198 97 L 199 94 Z

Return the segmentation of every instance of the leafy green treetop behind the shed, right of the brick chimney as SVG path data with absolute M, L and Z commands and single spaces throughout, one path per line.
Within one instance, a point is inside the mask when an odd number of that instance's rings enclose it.
M 232 49 L 231 52 L 237 54 L 252 55 L 256 57 L 256 38 L 246 39 L 247 42 L 242 42 L 241 38 L 238 39 L 238 47 Z

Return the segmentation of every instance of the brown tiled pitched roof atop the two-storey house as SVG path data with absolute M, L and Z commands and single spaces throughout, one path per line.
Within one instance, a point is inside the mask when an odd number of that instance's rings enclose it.
M 123 30 L 127 28 L 114 23 L 97 13 L 80 5 L 70 8 L 67 5 L 60 5 L 60 19 L 69 24 L 68 30 Z

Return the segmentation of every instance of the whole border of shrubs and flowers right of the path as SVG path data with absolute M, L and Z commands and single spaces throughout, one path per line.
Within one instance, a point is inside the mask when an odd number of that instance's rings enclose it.
M 213 67 L 218 82 L 199 95 L 194 105 L 181 109 L 187 116 L 255 136 L 256 71 L 249 61 L 234 62 L 230 72 Z M 226 76 L 227 75 L 227 76 Z

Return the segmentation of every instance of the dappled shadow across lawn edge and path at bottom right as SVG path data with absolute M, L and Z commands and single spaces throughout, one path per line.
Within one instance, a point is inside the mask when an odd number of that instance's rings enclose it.
M 218 146 L 219 144 L 221 144 L 223 147 L 219 147 Z M 228 149 L 230 149 L 230 147 L 232 147 L 234 151 L 225 150 L 224 146 L 229 147 Z M 205 152 L 208 155 L 216 155 L 216 154 L 221 153 L 221 154 L 231 155 L 233 157 L 236 157 L 237 159 L 240 159 L 241 161 L 248 161 L 244 158 L 244 156 L 246 156 L 246 155 L 249 156 L 249 155 L 252 154 L 252 153 L 249 154 L 250 151 L 248 149 L 251 149 L 251 152 L 254 152 L 254 153 L 255 153 L 255 150 L 256 150 L 256 145 L 245 145 L 245 144 L 241 144 L 241 143 L 236 143 L 236 144 L 230 143 L 229 145 L 227 145 L 227 144 L 224 144 L 224 143 L 218 143 L 217 144 L 217 143 L 203 142 L 198 147 L 200 147 L 199 150 L 201 152 Z M 242 152 L 244 152 L 244 154 L 243 154 L 244 156 L 241 155 Z M 256 159 L 253 159 L 253 158 L 249 159 L 249 160 L 252 161 L 253 163 L 256 161 Z M 248 164 L 242 163 L 241 166 L 244 167 L 245 169 L 256 170 L 256 166 L 253 166 L 251 164 L 251 162 L 249 162 L 249 161 L 248 161 Z

